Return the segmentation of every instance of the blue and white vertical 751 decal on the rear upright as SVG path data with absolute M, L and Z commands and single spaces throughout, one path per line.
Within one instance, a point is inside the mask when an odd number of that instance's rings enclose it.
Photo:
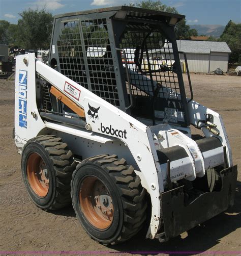
M 27 71 L 18 74 L 18 125 L 27 128 Z

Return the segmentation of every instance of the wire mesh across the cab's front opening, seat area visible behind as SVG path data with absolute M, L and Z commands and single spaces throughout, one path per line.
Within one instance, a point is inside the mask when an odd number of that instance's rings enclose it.
M 165 99 L 159 100 L 163 113 L 155 111 L 155 115 L 169 121 L 184 121 L 172 43 L 159 30 L 152 30 L 147 25 L 129 24 L 120 47 L 126 52 L 132 95 L 135 98 L 148 96 Z M 126 65 L 124 59 L 123 65 Z M 176 110 L 176 113 L 172 111 L 175 118 L 170 118 L 169 109 Z

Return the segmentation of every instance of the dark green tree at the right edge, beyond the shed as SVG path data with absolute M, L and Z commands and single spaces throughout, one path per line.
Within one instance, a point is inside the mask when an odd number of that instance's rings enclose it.
M 235 24 L 229 20 L 219 41 L 226 42 L 232 51 L 229 62 L 241 63 L 241 23 Z

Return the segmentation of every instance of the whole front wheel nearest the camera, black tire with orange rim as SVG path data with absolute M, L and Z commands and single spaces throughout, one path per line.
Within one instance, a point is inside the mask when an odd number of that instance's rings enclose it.
M 71 182 L 76 216 L 87 234 L 108 244 L 124 242 L 143 226 L 145 189 L 134 168 L 116 155 L 99 155 L 77 165 Z

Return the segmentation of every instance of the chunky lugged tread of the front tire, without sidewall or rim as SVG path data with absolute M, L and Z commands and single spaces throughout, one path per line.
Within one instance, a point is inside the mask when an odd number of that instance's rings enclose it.
M 136 175 L 131 165 L 127 165 L 125 159 L 118 159 L 116 155 L 98 155 L 85 159 L 78 164 L 73 177 L 78 167 L 84 163 L 93 163 L 105 169 L 114 181 L 119 195 L 122 197 L 124 211 L 123 228 L 119 236 L 109 244 L 118 244 L 130 239 L 140 231 L 146 219 L 146 191 L 141 186 L 139 176 Z M 103 244 L 107 245 L 106 243 Z

